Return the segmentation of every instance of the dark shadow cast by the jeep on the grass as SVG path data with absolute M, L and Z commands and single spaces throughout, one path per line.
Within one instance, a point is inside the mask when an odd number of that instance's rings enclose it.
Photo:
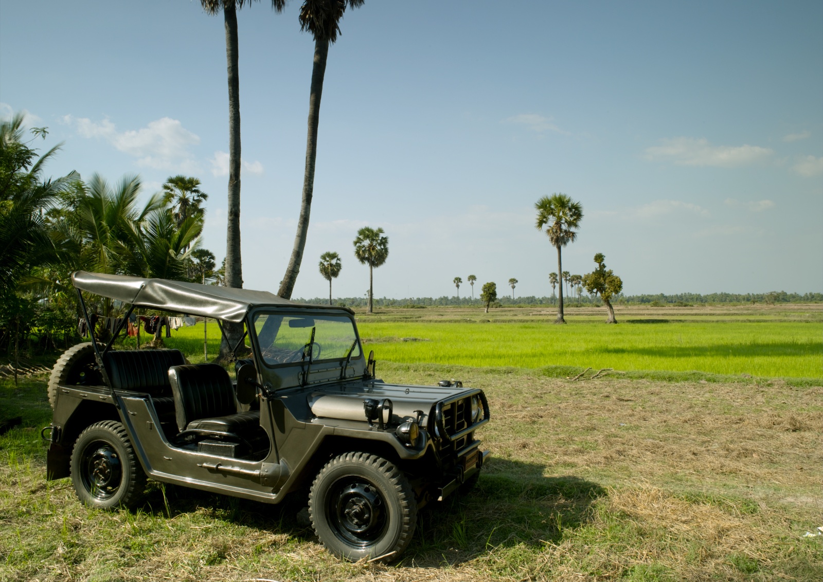
M 418 513 L 416 533 L 401 565 L 455 565 L 493 548 L 525 544 L 539 550 L 546 542 L 560 542 L 565 530 L 591 519 L 593 501 L 606 492 L 597 483 L 574 476 L 543 477 L 544 469 L 542 464 L 490 460 L 472 491 L 455 492 Z M 281 504 L 269 506 L 158 484 L 148 493 L 142 511 L 174 518 L 205 509 L 216 520 L 308 542 L 315 539 L 314 531 L 298 518 L 306 505 L 305 493 L 293 493 Z

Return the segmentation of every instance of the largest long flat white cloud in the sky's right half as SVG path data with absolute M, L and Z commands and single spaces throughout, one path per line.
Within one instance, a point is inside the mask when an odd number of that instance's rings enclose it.
M 661 140 L 660 146 L 646 148 L 646 159 L 672 160 L 681 166 L 734 168 L 754 164 L 774 151 L 760 146 L 712 146 L 708 140 L 675 137 Z

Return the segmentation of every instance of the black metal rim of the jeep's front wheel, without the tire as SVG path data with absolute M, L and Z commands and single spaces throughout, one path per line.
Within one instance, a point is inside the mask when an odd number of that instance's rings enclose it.
M 386 501 L 368 479 L 351 475 L 329 489 L 326 515 L 335 536 L 355 548 L 374 545 L 388 525 Z

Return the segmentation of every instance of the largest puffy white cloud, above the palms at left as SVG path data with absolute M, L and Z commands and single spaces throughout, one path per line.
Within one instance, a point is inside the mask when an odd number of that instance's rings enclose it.
M 177 119 L 160 118 L 146 127 L 127 132 L 118 132 L 108 118 L 93 122 L 89 118 L 65 115 L 63 122 L 75 127 L 83 137 L 108 141 L 117 150 L 137 158 L 138 165 L 188 172 L 198 168 L 188 148 L 197 146 L 200 138 Z

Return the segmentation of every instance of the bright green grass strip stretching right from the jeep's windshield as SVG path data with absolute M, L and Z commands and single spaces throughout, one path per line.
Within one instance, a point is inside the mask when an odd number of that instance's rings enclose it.
M 364 320 L 365 318 L 360 318 Z M 394 363 L 573 366 L 751 376 L 823 376 L 823 326 L 790 322 L 360 321 L 366 350 Z M 424 341 L 402 341 L 416 338 Z

